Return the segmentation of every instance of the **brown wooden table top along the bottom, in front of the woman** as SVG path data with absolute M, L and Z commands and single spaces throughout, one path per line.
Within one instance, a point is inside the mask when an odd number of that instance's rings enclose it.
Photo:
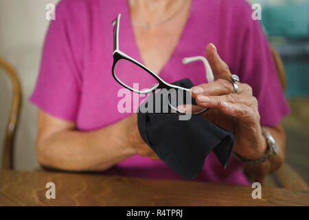
M 56 199 L 46 199 L 47 182 Z M 309 192 L 47 171 L 0 171 L 0 206 L 309 206 Z

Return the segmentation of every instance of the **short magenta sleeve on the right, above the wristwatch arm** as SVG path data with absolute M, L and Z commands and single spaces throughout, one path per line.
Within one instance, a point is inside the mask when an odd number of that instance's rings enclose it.
M 242 55 L 238 74 L 240 82 L 249 84 L 258 99 L 262 126 L 275 126 L 290 112 L 279 82 L 275 61 L 259 21 L 251 19 L 248 6 L 246 30 L 242 38 Z

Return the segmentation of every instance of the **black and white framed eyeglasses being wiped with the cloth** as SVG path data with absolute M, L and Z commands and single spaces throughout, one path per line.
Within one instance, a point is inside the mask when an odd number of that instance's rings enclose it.
M 150 69 L 145 67 L 143 64 L 131 58 L 121 50 L 119 50 L 119 25 L 120 25 L 121 14 L 117 15 L 117 18 L 113 21 L 113 67 L 112 74 L 113 78 L 130 91 L 138 94 L 150 94 L 155 92 L 156 89 L 176 89 L 176 91 L 181 91 L 183 94 L 190 94 L 190 89 L 185 87 L 179 87 L 177 85 L 172 85 L 166 83 L 157 74 L 152 72 Z M 211 67 L 207 59 L 203 56 L 194 56 L 190 58 L 183 58 L 183 64 L 191 63 L 194 61 L 202 61 L 205 66 L 206 78 L 208 82 L 214 81 L 214 75 L 212 74 Z M 130 72 L 128 72 L 128 69 Z M 141 89 L 139 89 L 141 87 Z M 187 96 L 186 96 L 187 97 Z M 190 96 L 191 97 L 191 96 Z M 190 101 L 190 102 L 189 102 Z M 171 104 L 173 103 L 173 104 Z M 193 113 L 201 114 L 208 109 L 198 107 L 192 98 L 188 102 L 177 102 L 174 104 L 168 100 L 168 104 L 172 109 L 178 113 Z

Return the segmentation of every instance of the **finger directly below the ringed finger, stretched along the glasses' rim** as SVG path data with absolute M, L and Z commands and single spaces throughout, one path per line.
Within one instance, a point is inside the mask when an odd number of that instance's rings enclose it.
M 258 104 L 255 97 L 249 97 L 240 94 L 228 94 L 225 96 L 197 96 L 196 103 L 207 109 L 218 108 L 220 102 L 229 102 L 233 104 L 245 104 L 249 107 Z

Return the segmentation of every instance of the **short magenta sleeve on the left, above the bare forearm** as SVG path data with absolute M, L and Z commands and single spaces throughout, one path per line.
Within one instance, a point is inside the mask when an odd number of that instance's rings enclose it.
M 74 33 L 72 14 L 67 1 L 56 7 L 56 20 L 47 30 L 41 65 L 30 102 L 46 113 L 75 121 L 80 100 L 80 62 L 78 37 Z M 76 30 L 77 31 L 77 30 Z

